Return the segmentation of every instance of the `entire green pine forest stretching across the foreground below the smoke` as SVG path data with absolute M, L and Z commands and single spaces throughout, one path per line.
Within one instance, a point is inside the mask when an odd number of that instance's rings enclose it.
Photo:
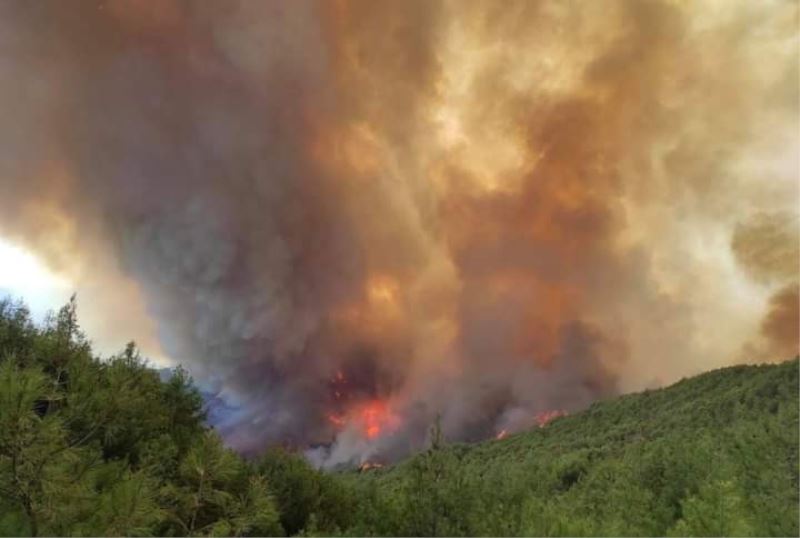
M 798 535 L 798 360 L 599 402 L 499 441 L 324 473 L 245 460 L 187 374 L 100 360 L 75 302 L 0 302 L 3 535 Z

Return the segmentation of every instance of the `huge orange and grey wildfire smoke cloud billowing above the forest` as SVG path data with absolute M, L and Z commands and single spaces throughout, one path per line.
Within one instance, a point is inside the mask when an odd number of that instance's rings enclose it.
M 143 300 L 243 450 L 391 457 L 782 360 L 797 17 L 3 2 L 0 234 Z

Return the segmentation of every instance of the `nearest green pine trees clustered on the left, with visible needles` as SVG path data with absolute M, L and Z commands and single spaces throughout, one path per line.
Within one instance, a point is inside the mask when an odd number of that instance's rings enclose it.
M 183 370 L 91 353 L 74 298 L 0 301 L 0 534 L 282 534 L 269 484 L 204 424 Z

